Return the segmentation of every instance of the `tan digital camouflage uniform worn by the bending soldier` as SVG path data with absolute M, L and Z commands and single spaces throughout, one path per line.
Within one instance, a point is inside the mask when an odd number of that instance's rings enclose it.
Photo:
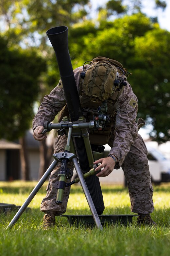
M 90 98 L 81 93 L 81 72 L 82 67 L 74 70 L 81 106 L 96 109 L 101 104 L 91 102 Z M 109 155 L 113 154 L 118 159 L 115 168 L 122 167 L 124 171 L 128 184 L 131 211 L 142 214 L 152 213 L 154 209 L 152 200 L 153 188 L 147 160 L 147 149 L 142 137 L 138 134 L 138 124 L 136 123 L 138 100 L 128 82 L 117 99 L 115 94 L 108 99 L 108 113 L 116 113 L 111 123 L 111 137 L 108 142 L 111 147 Z M 57 87 L 49 95 L 44 96 L 39 110 L 34 117 L 33 129 L 39 125 L 43 126 L 45 121 L 51 122 L 65 104 L 66 99 L 60 80 Z M 142 126 L 142 124 L 139 126 Z M 95 135 L 90 136 L 93 138 Z M 66 137 L 58 136 L 55 143 L 55 153 L 64 151 L 65 144 Z M 73 168 L 71 163 L 69 167 Z M 70 187 L 65 188 L 63 204 L 57 205 L 55 203 L 57 189 L 54 188 L 54 184 L 58 180 L 57 173 L 59 169 L 60 163 L 51 173 L 47 194 L 41 204 L 41 211 L 54 211 L 56 215 L 61 215 L 65 212 L 70 193 Z

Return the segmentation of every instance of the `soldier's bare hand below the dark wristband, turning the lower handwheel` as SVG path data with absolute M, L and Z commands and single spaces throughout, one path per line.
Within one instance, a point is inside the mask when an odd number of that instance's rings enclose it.
M 112 172 L 115 166 L 115 161 L 111 157 L 101 158 L 93 162 L 93 164 L 96 164 L 96 163 L 101 163 L 101 164 L 95 169 L 95 171 L 98 171 L 101 168 L 103 168 L 103 170 L 101 170 L 98 174 L 96 174 L 97 177 L 108 176 Z

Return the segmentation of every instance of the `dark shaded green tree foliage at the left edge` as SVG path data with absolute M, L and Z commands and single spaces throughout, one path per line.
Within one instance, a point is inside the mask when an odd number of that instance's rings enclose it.
M 29 129 L 45 67 L 35 51 L 10 49 L 0 37 L 0 138 L 18 139 Z

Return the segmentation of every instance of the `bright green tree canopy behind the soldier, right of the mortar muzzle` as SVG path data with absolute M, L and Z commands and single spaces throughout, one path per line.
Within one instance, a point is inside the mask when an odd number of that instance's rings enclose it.
M 79 31 L 85 34 L 79 36 Z M 70 34 L 74 67 L 96 56 L 105 56 L 118 60 L 132 73 L 128 81 L 139 99 L 138 117 L 152 124 L 152 139 L 167 141 L 170 138 L 170 32 L 162 30 L 144 14 L 136 13 L 113 22 L 102 21 L 97 29 L 93 23 L 79 24 Z M 78 62 L 74 56 L 79 56 Z

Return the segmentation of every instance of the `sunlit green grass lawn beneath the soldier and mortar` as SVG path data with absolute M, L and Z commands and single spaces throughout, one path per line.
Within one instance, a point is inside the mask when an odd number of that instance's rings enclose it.
M 37 182 L 0 182 L 0 203 L 22 205 Z M 170 255 L 170 183 L 154 187 L 152 218 L 157 227 L 110 224 L 103 230 L 71 226 L 65 217 L 56 217 L 51 230 L 40 229 L 43 213 L 40 204 L 46 183 L 17 223 L 6 230 L 14 213 L 0 214 L 0 255 Z M 127 188 L 102 185 L 103 214 L 131 214 Z M 91 214 L 81 186 L 73 185 L 66 214 Z

